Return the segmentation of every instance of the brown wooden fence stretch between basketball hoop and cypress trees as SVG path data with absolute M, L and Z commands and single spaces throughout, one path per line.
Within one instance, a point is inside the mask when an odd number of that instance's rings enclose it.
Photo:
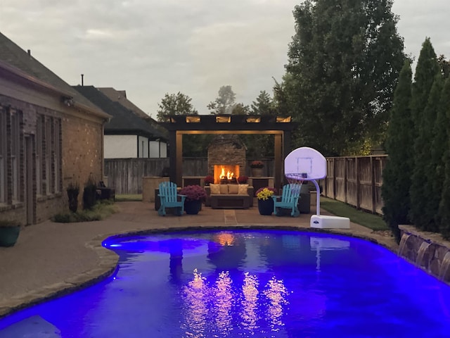
M 387 155 L 327 158 L 324 196 L 382 215 L 381 185 L 386 162 Z

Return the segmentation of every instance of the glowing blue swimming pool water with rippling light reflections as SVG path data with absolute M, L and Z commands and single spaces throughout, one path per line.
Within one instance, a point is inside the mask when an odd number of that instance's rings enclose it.
M 111 237 L 107 280 L 0 320 L 8 337 L 450 337 L 450 288 L 375 244 L 232 230 Z

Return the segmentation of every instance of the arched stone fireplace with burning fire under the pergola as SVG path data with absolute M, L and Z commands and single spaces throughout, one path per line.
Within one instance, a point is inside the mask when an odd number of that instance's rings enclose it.
M 214 137 L 208 146 L 208 173 L 214 183 L 236 182 L 245 174 L 245 144 L 238 135 L 221 134 Z

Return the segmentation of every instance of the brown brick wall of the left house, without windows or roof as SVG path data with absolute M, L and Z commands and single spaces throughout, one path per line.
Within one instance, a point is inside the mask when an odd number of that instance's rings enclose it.
M 24 101 L 12 99 L 0 95 L 0 106 L 10 107 L 15 111 L 21 111 L 22 121 L 20 124 L 20 196 L 22 201 L 15 204 L 0 205 L 0 219 L 18 220 L 25 224 L 27 222 L 27 211 L 25 209 L 25 154 L 23 151 L 25 137 L 32 138 L 32 168 L 36 168 L 36 135 L 38 116 L 45 115 L 60 123 L 60 158 L 59 168 L 60 182 L 54 194 L 37 196 L 36 172 L 32 173 L 32 223 L 41 223 L 48 220 L 52 215 L 68 211 L 68 196 L 66 187 L 70 182 L 79 184 L 79 206 L 82 206 L 82 189 L 85 182 L 92 177 L 96 182 L 103 177 L 103 120 L 93 118 L 83 111 L 75 108 L 62 107 L 61 111 L 44 108 L 29 104 Z M 4 112 L 8 111 L 6 109 Z M 8 175 L 11 175 L 8 170 Z M 11 182 L 11 177 L 7 182 Z M 10 191 L 11 189 L 8 189 Z

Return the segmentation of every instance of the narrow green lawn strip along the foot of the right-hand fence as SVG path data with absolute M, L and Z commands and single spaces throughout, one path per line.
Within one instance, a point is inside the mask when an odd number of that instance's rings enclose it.
M 321 196 L 321 208 L 333 213 L 333 215 L 348 217 L 353 223 L 363 225 L 372 230 L 389 230 L 383 218 L 380 215 L 357 210 L 349 204 L 345 204 L 334 199 L 328 199 Z

